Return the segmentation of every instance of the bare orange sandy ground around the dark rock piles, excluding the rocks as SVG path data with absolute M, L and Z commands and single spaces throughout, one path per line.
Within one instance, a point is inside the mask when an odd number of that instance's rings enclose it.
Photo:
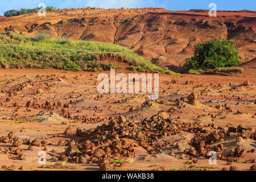
M 131 73 L 123 69 L 115 72 Z M 79 164 L 69 161 L 63 164 L 50 159 L 58 158 L 67 149 L 67 145 L 58 144 L 60 141 L 69 142 L 71 139 L 76 143 L 82 141 L 81 137 L 76 136 L 77 127 L 85 132 L 104 123 L 108 124 L 109 117 L 118 117 L 119 114 L 142 121 L 164 111 L 177 122 L 199 121 L 205 126 L 213 124 L 220 127 L 225 127 L 228 123 L 237 127 L 244 123 L 255 129 L 255 72 L 250 76 L 159 75 L 159 98 L 150 106 L 143 106 L 147 94 L 99 94 L 97 85 L 100 81 L 97 80 L 97 76 L 100 73 L 66 72 L 55 69 L 0 69 L 0 137 L 6 137 L 13 131 L 15 137 L 23 139 L 23 144 L 18 148 L 23 149 L 24 156 L 23 160 L 20 160 L 19 155 L 15 154 L 17 147 L 12 147 L 13 140 L 2 142 L 0 166 L 4 166 L 3 169 L 14 170 L 19 170 L 20 167 L 23 170 L 98 170 L 97 163 Z M 108 71 L 104 73 L 110 74 Z M 245 81 L 249 83 L 246 86 L 241 85 Z M 177 98 L 187 98 L 191 92 L 197 94 L 199 105 L 187 104 L 185 107 L 175 107 Z M 28 104 L 28 101 L 31 103 Z M 60 102 L 64 106 L 53 104 L 47 109 L 46 101 L 51 104 Z M 229 111 L 225 107 L 216 108 L 217 105 L 225 104 L 229 105 Z M 133 109 L 130 109 L 131 107 Z M 46 110 L 46 113 L 37 115 L 43 110 Z M 236 114 L 237 111 L 240 113 Z M 77 115 L 79 117 L 76 117 Z M 64 131 L 68 126 L 73 130 L 69 135 L 65 135 Z M 229 139 L 225 139 L 226 142 L 232 143 L 232 136 L 234 139 L 240 134 L 233 133 Z M 174 143 L 170 142 L 169 146 L 163 146 L 162 150 L 175 146 L 177 141 L 189 141 L 193 137 L 195 137 L 193 134 L 184 131 L 169 136 Z M 32 146 L 32 149 L 28 150 L 34 139 L 46 142 L 44 146 Z M 138 143 L 138 141 L 133 142 Z M 248 152 L 237 158 L 237 162 L 233 162 L 232 165 L 248 170 L 253 165 L 251 159 L 255 162 L 256 152 L 249 152 L 256 148 L 255 139 L 245 138 L 241 146 Z M 232 144 L 232 147 L 234 151 L 236 144 Z M 38 164 L 39 151 L 45 151 L 47 154 L 48 160 L 45 166 Z M 189 169 L 192 164 L 186 163 L 191 162 L 195 157 L 187 154 L 181 157 L 180 152 L 174 150 L 175 155 L 168 155 L 168 152 L 150 154 L 145 148 L 137 146 L 134 147 L 134 154 L 130 157 L 117 157 L 119 160 L 130 159 L 129 166 L 120 167 L 119 163 L 114 163 L 113 169 L 152 170 L 159 167 Z M 196 167 L 192 166 L 190 169 L 204 169 L 210 166 L 210 170 L 220 170 L 230 167 L 226 160 L 217 160 L 217 164 L 209 164 L 208 158 L 203 156 L 196 159 L 198 162 L 193 164 Z

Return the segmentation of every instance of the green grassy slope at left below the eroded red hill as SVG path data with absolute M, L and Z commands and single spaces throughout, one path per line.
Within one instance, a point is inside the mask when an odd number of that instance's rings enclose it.
M 0 67 L 55 68 L 67 71 L 101 71 L 120 68 L 100 61 L 102 57 L 124 59 L 137 71 L 171 73 L 152 64 L 129 48 L 117 44 L 84 40 L 56 39 L 46 34 L 34 38 L 5 32 L 0 34 Z

